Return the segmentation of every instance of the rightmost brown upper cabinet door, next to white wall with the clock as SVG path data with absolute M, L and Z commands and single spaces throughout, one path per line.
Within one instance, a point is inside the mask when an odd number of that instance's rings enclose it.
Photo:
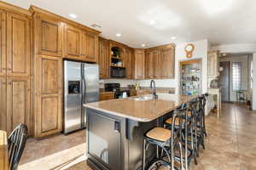
M 175 54 L 174 48 L 161 50 L 161 78 L 174 78 Z

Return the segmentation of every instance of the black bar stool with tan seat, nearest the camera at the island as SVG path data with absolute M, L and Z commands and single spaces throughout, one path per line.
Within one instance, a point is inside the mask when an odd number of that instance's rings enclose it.
M 172 114 L 172 124 L 174 125 L 177 120 L 181 121 L 180 118 L 180 111 L 174 111 Z M 179 123 L 180 125 L 182 123 Z M 154 127 L 148 130 L 147 133 L 144 134 L 144 141 L 143 141 L 143 170 L 146 168 L 146 150 L 148 150 L 148 145 L 153 144 L 156 145 L 161 149 L 161 155 L 157 153 L 157 158 L 148 165 L 147 169 L 158 169 L 161 167 L 168 167 L 172 170 L 177 170 L 177 167 L 174 166 L 174 153 L 175 149 L 178 148 L 179 150 L 179 158 L 181 161 L 180 169 L 183 169 L 183 151 L 182 151 L 182 144 L 181 144 L 181 133 L 182 128 L 178 127 L 175 128 L 174 126 L 171 129 L 165 127 Z M 165 160 L 167 157 L 167 161 Z

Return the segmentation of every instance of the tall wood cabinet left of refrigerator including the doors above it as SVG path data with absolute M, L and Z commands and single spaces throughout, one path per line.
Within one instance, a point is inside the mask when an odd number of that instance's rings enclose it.
M 32 105 L 34 136 L 59 133 L 63 127 L 63 59 L 96 63 L 99 31 L 32 6 Z

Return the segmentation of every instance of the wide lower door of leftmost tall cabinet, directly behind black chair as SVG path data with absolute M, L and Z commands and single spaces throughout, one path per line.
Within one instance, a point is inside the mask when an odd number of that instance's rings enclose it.
M 25 123 L 31 133 L 30 79 L 7 78 L 7 131 L 12 132 L 20 123 Z

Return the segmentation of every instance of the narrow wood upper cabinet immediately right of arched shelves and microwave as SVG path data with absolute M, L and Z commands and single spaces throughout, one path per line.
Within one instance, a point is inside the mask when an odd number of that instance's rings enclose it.
M 126 78 L 132 79 L 133 78 L 133 51 L 131 48 L 125 48 L 125 71 L 126 71 Z

